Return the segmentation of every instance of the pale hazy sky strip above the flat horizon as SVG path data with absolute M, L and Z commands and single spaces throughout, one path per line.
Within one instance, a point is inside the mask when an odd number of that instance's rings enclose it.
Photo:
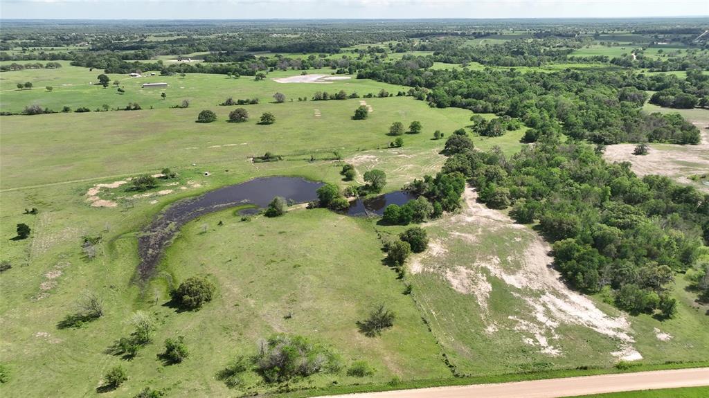
M 709 16 L 709 0 L 0 0 L 0 18 L 630 18 Z

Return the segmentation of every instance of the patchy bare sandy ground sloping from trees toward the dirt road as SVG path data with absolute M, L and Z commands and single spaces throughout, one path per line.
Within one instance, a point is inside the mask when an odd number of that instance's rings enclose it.
M 592 329 L 615 341 L 617 351 L 611 354 L 618 359 L 642 359 L 632 346 L 635 340 L 625 316 L 611 317 L 588 297 L 570 290 L 562 282 L 559 272 L 552 268 L 551 247 L 546 241 L 531 229 L 515 224 L 502 212 L 478 203 L 472 188 L 466 189 L 464 197 L 463 212 L 436 222 L 447 231 L 448 238 L 434 240 L 427 251 L 415 256 L 410 264 L 411 273 L 437 273 L 457 292 L 474 295 L 487 334 L 500 328 L 518 331 L 523 342 L 535 346 L 541 353 L 559 356 L 563 353 L 555 341 L 561 341 L 562 336 L 557 329 L 563 324 L 571 324 Z M 447 260 L 446 255 L 452 249 L 447 245 L 455 241 L 478 245 L 491 232 L 513 236 L 513 240 L 519 242 L 514 244 L 518 246 L 517 253 L 500 258 L 493 248 L 485 253 L 472 254 L 470 264 L 450 266 L 452 261 Z M 508 290 L 526 308 L 507 314 L 506 319 L 500 318 L 505 314 L 496 314 L 493 319 L 488 311 L 488 300 L 493 291 L 489 277 L 506 283 Z

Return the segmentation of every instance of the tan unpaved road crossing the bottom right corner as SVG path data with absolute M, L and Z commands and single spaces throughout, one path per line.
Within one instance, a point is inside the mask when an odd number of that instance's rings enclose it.
M 418 390 L 397 390 L 347 394 L 337 397 L 357 398 L 557 398 L 605 392 L 657 390 L 660 388 L 709 386 L 709 368 L 657 370 L 654 372 L 624 373 L 567 377 L 562 379 L 532 380 L 489 385 L 433 387 Z

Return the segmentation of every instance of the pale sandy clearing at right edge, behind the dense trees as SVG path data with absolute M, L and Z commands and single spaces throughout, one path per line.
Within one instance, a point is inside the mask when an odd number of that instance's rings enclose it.
M 668 176 L 709 193 L 709 186 L 693 183 L 688 178 L 709 170 L 709 132 L 700 123 L 694 124 L 702 131 L 700 144 L 649 144 L 649 153 L 642 156 L 632 154 L 635 144 L 615 144 L 605 147 L 603 157 L 611 162 L 630 162 L 632 171 L 638 176 Z

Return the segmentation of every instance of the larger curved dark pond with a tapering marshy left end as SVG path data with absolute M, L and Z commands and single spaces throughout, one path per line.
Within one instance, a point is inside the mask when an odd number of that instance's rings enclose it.
M 138 278 L 147 280 L 155 271 L 164 251 L 164 246 L 174 237 L 182 225 L 196 217 L 228 207 L 251 204 L 267 207 L 276 196 L 295 203 L 316 200 L 316 191 L 323 183 L 307 181 L 298 177 L 264 177 L 245 183 L 225 186 L 196 198 L 180 200 L 167 207 L 143 230 L 138 237 Z M 247 213 L 250 209 L 243 212 Z

